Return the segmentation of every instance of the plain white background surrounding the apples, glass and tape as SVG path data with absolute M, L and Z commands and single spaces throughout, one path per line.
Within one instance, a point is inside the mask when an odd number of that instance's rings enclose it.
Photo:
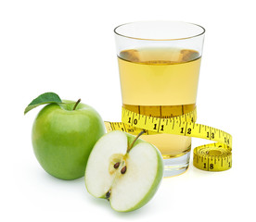
M 255 5 L 228 0 L 2 0 L 0 3 L 1 221 L 255 220 Z M 190 166 L 163 179 L 143 208 L 116 213 L 85 190 L 83 178 L 55 179 L 33 152 L 32 99 L 55 92 L 121 120 L 113 29 L 136 20 L 183 20 L 206 29 L 198 123 L 233 135 L 233 167 Z M 195 145 L 206 141 L 195 139 Z

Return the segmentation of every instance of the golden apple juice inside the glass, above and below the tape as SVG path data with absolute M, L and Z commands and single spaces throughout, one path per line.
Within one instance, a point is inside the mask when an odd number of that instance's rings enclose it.
M 179 48 L 138 48 L 118 56 L 122 105 L 150 117 L 177 117 L 196 107 L 200 56 Z M 186 154 L 191 138 L 155 134 L 141 137 L 160 149 L 164 158 Z

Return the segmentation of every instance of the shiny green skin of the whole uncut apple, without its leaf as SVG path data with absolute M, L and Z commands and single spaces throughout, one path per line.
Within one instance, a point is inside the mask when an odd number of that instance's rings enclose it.
M 47 173 L 58 179 L 79 179 L 95 143 L 105 133 L 104 122 L 89 105 L 74 101 L 46 105 L 32 126 L 34 154 Z

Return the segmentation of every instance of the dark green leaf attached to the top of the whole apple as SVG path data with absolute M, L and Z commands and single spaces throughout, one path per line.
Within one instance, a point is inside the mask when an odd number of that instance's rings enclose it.
M 24 110 L 24 115 L 38 105 L 62 103 L 57 93 L 43 93 L 35 98 Z

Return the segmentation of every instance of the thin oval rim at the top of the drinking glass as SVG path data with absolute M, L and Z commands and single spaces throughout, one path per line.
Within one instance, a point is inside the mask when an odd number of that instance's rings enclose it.
M 141 22 L 179 22 L 179 23 L 184 23 L 184 24 L 188 24 L 188 25 L 193 25 L 193 26 L 197 26 L 198 28 L 200 28 L 202 31 L 200 31 L 198 34 L 196 35 L 191 35 L 191 36 L 187 36 L 187 37 L 183 37 L 183 38 L 166 38 L 166 39 L 153 39 L 153 38 L 138 38 L 138 37 L 132 37 L 132 36 L 128 36 L 128 35 L 124 35 L 124 34 L 121 34 L 119 33 L 117 30 L 122 27 L 122 26 L 126 26 L 126 25 L 131 25 L 131 24 L 134 24 L 134 23 L 141 23 Z M 152 20 L 152 21 L 132 21 L 132 22 L 127 22 L 127 23 L 123 23 L 119 26 L 117 26 L 115 29 L 114 29 L 114 33 L 119 35 L 119 36 L 122 36 L 122 37 L 125 37 L 125 38 L 129 38 L 129 39 L 134 39 L 134 40 L 145 40 L 145 41 L 177 41 L 177 40 L 186 40 L 186 39 L 192 39 L 192 38 L 195 38 L 195 37 L 198 37 L 198 36 L 201 36 L 205 33 L 205 29 L 196 24 L 196 23 L 191 23 L 191 22 L 186 22 L 186 21 L 174 21 L 174 20 Z

